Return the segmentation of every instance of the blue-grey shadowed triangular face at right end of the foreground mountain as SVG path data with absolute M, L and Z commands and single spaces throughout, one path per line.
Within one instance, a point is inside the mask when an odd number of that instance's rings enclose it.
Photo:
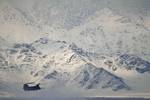
M 79 86 L 87 89 L 110 87 L 114 91 L 122 88 L 129 89 L 121 78 L 114 76 L 103 68 L 96 68 L 96 66 L 90 63 L 87 63 L 82 67 L 82 70 L 77 70 L 75 73 L 77 76 L 73 79 L 73 82 L 79 84 Z

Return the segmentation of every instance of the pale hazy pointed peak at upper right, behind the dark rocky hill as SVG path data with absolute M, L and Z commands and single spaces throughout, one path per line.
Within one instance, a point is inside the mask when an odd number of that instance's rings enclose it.
M 100 53 L 122 52 L 147 55 L 147 58 L 149 55 L 149 31 L 110 8 L 97 11 L 83 25 L 72 29 L 70 34 L 79 39 L 79 43 L 74 40 L 78 45 L 92 51 L 95 48 Z

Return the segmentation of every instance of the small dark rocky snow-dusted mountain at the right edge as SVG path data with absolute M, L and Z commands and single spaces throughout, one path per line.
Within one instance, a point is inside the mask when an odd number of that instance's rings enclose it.
M 127 71 L 135 70 L 137 73 L 143 74 L 149 73 L 150 70 L 148 61 L 131 54 L 119 54 L 106 58 L 103 64 L 112 69 L 112 71 L 126 69 Z

